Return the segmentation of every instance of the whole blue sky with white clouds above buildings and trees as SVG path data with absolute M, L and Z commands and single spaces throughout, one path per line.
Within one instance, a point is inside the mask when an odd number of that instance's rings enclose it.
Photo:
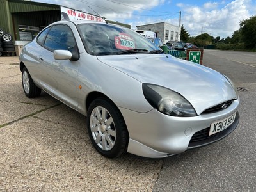
M 33 0 L 58 4 L 130 24 L 132 29 L 143 24 L 168 22 L 181 25 L 190 36 L 208 33 L 227 38 L 239 29 L 241 21 L 256 15 L 255 0 Z M 96 13 L 95 13 L 96 12 Z M 181 17 L 180 17 L 181 13 Z

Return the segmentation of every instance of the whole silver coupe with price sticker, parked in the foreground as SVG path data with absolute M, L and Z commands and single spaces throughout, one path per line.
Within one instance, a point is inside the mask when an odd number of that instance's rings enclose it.
M 27 97 L 44 90 L 87 116 L 93 146 L 109 158 L 172 156 L 225 138 L 239 122 L 228 77 L 121 26 L 55 22 L 24 46 L 20 70 Z

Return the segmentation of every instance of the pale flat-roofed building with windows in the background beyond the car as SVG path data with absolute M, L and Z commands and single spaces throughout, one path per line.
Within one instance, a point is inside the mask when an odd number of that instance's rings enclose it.
M 180 41 L 181 28 L 178 26 L 169 24 L 168 22 L 158 22 L 154 24 L 137 26 L 137 29 L 155 32 L 156 36 L 158 38 L 161 38 L 164 44 L 170 40 Z

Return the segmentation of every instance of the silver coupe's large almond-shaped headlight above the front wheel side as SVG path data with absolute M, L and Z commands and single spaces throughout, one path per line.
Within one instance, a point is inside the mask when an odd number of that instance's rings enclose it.
M 193 106 L 182 95 L 156 84 L 143 84 L 147 101 L 158 111 L 170 116 L 196 116 Z

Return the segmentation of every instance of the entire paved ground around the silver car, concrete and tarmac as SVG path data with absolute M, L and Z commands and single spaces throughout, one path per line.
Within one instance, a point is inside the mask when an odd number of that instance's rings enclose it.
M 256 191 L 256 53 L 204 51 L 230 77 L 241 119 L 227 138 L 162 160 L 107 159 L 86 118 L 42 92 L 25 96 L 18 57 L 0 56 L 0 191 Z

